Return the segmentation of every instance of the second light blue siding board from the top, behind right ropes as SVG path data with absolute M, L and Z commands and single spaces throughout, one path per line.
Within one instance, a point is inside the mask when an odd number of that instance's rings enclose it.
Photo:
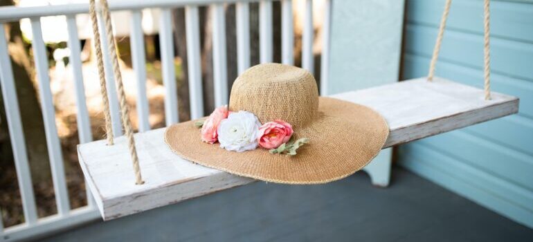
M 405 51 L 430 57 L 437 28 L 408 24 Z M 471 33 L 446 30 L 439 55 L 440 61 L 482 68 L 483 37 Z M 533 45 L 491 38 L 491 71 L 533 82 Z

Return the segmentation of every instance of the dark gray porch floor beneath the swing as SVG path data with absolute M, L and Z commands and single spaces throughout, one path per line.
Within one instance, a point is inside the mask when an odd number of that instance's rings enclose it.
M 395 167 L 313 186 L 254 183 L 44 241 L 533 241 L 533 230 Z

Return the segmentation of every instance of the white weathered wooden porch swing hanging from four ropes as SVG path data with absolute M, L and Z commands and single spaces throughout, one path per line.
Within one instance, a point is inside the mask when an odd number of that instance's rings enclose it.
M 90 2 L 107 140 L 78 145 L 78 157 L 102 218 L 110 220 L 253 183 L 255 180 L 251 178 L 203 167 L 180 158 L 165 144 L 164 128 L 133 133 L 118 68 L 109 8 L 107 1 L 101 0 L 102 27 L 106 28 L 125 129 L 125 136 L 114 139 L 105 89 L 96 3 L 95 0 Z M 446 0 L 428 77 L 332 95 L 340 100 L 369 106 L 386 118 L 390 134 L 383 149 L 518 112 L 517 97 L 490 91 L 489 0 L 485 0 L 485 89 L 434 76 L 450 5 L 451 0 Z

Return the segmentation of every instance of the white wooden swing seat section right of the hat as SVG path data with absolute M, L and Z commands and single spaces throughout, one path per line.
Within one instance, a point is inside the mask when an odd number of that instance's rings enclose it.
M 518 98 L 436 78 L 418 78 L 333 95 L 372 107 L 386 118 L 390 134 L 383 148 L 460 129 L 518 112 Z

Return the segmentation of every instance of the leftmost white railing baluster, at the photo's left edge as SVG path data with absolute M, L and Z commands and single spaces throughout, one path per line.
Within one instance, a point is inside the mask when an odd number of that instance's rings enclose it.
M 2 23 L 0 23 L 0 50 L 2 50 L 0 51 L 0 87 L 2 89 L 3 105 L 6 109 L 11 149 L 13 151 L 13 158 L 15 158 L 15 169 L 17 169 L 22 210 L 24 210 L 24 221 L 32 225 L 37 222 L 37 209 L 35 207 L 35 196 L 31 183 L 30 166 L 28 165 L 26 142 L 24 141 L 22 122 L 20 120 L 15 80 L 13 78 L 13 70 L 8 54 L 8 43 Z

